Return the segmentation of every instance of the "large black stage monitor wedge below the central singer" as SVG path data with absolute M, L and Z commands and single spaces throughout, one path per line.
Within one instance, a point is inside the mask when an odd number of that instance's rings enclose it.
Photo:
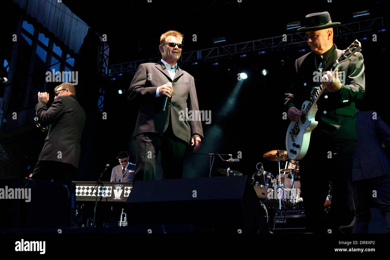
M 247 176 L 137 181 L 126 210 L 129 226 L 184 224 L 191 232 L 257 233 L 264 218 Z

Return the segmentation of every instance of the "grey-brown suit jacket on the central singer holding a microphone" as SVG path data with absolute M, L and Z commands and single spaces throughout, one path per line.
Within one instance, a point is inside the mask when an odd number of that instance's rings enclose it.
M 166 110 L 161 111 L 164 97 L 156 97 L 156 90 L 167 82 L 172 83 L 174 95 L 168 98 Z M 181 140 L 190 144 L 193 134 L 199 134 L 203 139 L 202 123 L 199 119 L 194 121 L 180 117 L 186 113 L 186 108 L 188 111 L 199 111 L 199 105 L 193 76 L 179 66 L 172 80 L 161 60 L 157 63 L 141 64 L 131 81 L 128 99 L 140 103 L 134 137 L 147 132 L 164 133 L 171 118 L 173 133 Z

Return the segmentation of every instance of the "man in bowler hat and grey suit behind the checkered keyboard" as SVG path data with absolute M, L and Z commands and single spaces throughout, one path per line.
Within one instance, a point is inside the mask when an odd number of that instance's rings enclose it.
M 129 155 L 126 151 L 118 153 L 117 159 L 120 165 L 112 168 L 112 182 L 133 182 L 135 173 L 135 164 L 129 162 Z

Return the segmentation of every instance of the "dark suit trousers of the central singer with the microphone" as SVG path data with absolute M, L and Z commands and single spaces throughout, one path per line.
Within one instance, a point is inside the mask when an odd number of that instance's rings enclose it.
M 160 150 L 163 179 L 181 178 L 184 154 L 188 144 L 173 134 L 171 125 L 163 134 L 138 134 L 135 137 L 135 145 L 137 157 L 133 182 L 155 179 L 156 158 Z

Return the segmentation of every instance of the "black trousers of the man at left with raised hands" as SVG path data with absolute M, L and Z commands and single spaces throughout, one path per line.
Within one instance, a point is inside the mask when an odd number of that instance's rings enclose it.
M 35 164 L 32 179 L 53 180 L 54 182 L 72 182 L 77 168 L 69 163 L 56 161 L 38 161 Z

